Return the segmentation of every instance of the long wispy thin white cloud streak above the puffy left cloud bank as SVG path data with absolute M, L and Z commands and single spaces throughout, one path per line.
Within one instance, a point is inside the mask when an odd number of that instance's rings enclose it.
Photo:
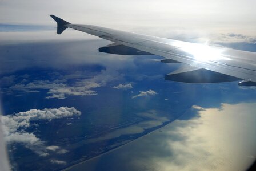
M 38 89 L 48 89 L 49 91 L 46 99 L 66 99 L 67 96 L 93 96 L 97 95 L 97 92 L 92 90 L 93 88 L 106 86 L 108 82 L 120 79 L 122 75 L 119 72 L 110 69 L 102 70 L 98 75 L 90 76 L 90 78 L 84 78 L 81 75 L 80 78 L 75 80 L 72 85 L 69 85 L 67 81 L 69 79 L 77 79 L 79 75 L 70 75 L 68 77 L 59 76 L 63 78 L 61 80 L 34 80 L 33 82 L 23 84 L 17 83 L 9 88 L 10 91 L 23 91 L 23 92 L 39 92 Z M 87 76 L 88 77 L 88 76 Z M 127 85 L 127 88 L 131 85 Z

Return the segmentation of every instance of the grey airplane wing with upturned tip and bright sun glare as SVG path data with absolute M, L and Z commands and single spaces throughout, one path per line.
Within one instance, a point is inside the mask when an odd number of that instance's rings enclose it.
M 121 55 L 158 55 L 164 63 L 184 63 L 166 75 L 166 80 L 184 83 L 218 83 L 242 80 L 240 86 L 256 86 L 256 53 L 135 34 L 105 27 L 77 25 L 50 15 L 57 34 L 66 28 L 86 32 L 114 42 L 100 52 Z

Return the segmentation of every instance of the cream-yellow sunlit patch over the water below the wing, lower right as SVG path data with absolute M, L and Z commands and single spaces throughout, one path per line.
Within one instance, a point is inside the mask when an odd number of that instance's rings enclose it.
M 161 140 L 167 144 L 166 153 L 173 155 L 151 159 L 160 170 L 244 170 L 255 160 L 249 158 L 256 152 L 256 139 L 252 137 L 254 106 L 255 103 L 222 104 L 219 108 L 193 106 L 200 117 L 175 120 L 158 133 L 166 138 Z

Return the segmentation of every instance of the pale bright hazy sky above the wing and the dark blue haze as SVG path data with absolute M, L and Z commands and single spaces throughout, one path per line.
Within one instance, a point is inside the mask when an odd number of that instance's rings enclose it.
M 256 2 L 233 1 L 7 1 L 0 2 L 0 23 L 56 27 L 49 14 L 71 23 L 117 28 L 172 38 L 177 35 L 205 36 L 226 33 L 256 35 Z M 25 30 L 26 31 L 26 30 Z M 48 31 L 3 34 L 2 39 L 58 39 Z M 94 38 L 72 32 L 63 38 Z M 14 38 L 13 38 L 14 37 Z

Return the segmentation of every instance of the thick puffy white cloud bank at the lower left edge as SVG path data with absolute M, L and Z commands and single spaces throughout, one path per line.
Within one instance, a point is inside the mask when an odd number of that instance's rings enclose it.
M 81 112 L 74 107 L 45 108 L 43 110 L 31 109 L 26 112 L 14 113 L 13 115 L 0 116 L 3 135 L 7 143 L 22 143 L 26 148 L 33 150 L 40 156 L 47 156 L 47 150 L 63 152 L 59 146 L 45 146 L 34 133 L 26 131 L 33 126 L 31 121 L 61 119 L 73 116 L 80 116 Z

